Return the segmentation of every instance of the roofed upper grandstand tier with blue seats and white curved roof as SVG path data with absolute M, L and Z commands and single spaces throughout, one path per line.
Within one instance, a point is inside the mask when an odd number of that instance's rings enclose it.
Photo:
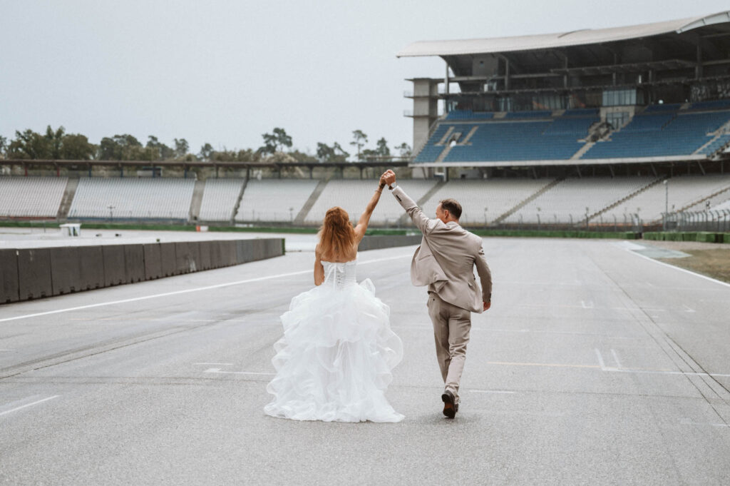
M 399 57 L 440 56 L 447 76 L 411 80 L 414 166 L 724 159 L 729 39 L 730 14 L 721 12 L 612 29 L 415 42 Z

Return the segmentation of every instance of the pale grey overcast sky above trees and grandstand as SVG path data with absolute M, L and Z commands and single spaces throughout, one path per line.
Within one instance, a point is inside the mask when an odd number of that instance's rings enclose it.
M 593 6 L 591 6 L 593 4 Z M 0 0 L 0 134 L 55 129 L 91 142 L 129 133 L 191 151 L 258 148 L 283 127 L 295 148 L 412 143 L 407 77 L 440 58 L 410 42 L 545 34 L 694 17 L 722 0 Z

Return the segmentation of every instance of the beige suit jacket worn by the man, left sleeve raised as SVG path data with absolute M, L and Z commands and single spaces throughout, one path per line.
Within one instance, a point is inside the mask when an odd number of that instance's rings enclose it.
M 483 311 L 482 301 L 491 302 L 492 276 L 484 259 L 482 238 L 466 231 L 458 223 L 444 224 L 429 219 L 400 187 L 393 196 L 423 233 L 420 246 L 411 261 L 411 282 L 429 286 L 442 300 L 472 312 Z M 482 284 L 480 290 L 474 267 Z

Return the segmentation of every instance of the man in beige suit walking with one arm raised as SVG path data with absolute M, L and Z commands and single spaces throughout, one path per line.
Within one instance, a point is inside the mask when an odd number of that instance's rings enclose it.
M 461 205 L 455 200 L 439 202 L 436 219 L 429 219 L 403 189 L 396 186 L 395 172 L 386 170 L 383 178 L 423 233 L 411 262 L 411 282 L 416 286 L 429 286 L 429 316 L 434 324 L 436 357 L 445 384 L 441 399 L 444 415 L 453 419 L 458 411 L 458 387 L 464 371 L 472 312 L 481 313 L 491 306 L 492 276 L 484 259 L 482 239 L 458 224 Z M 482 283 L 481 291 L 474 278 L 475 266 Z

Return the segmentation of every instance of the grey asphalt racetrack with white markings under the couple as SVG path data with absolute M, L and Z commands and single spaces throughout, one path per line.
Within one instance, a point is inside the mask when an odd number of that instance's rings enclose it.
M 298 240 L 297 240 L 298 238 Z M 487 238 L 456 419 L 415 247 L 361 252 L 397 424 L 264 415 L 304 251 L 0 305 L 4 485 L 727 485 L 730 286 L 609 240 Z M 310 245 L 311 246 L 311 245 Z

